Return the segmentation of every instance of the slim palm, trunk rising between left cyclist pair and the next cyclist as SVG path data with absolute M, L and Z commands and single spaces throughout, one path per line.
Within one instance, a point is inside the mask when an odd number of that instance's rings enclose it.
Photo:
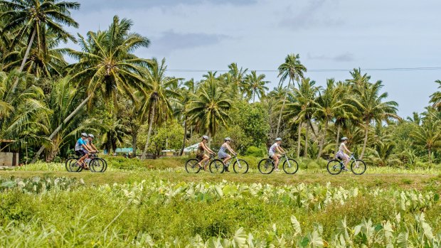
M 180 78 L 167 77 L 165 72 L 167 66 L 165 58 L 158 63 L 156 58 L 152 60 L 146 72 L 147 97 L 142 107 L 143 114 L 149 116 L 149 131 L 147 132 L 147 141 L 142 151 L 142 158 L 146 158 L 149 148 L 150 136 L 152 134 L 155 114 L 158 117 L 171 115 L 171 103 L 169 97 L 176 97 L 177 93 L 170 90 L 169 87 L 181 80 Z

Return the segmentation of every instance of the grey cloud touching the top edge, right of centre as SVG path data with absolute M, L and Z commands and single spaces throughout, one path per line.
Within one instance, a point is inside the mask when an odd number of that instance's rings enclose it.
M 300 30 L 317 26 L 341 26 L 344 23 L 340 18 L 329 16 L 329 9 L 337 1 L 329 0 L 309 0 L 306 6 L 296 6 L 295 11 L 292 6 L 285 11 L 285 17 L 280 21 L 280 26 Z M 325 11 L 326 10 L 326 11 Z

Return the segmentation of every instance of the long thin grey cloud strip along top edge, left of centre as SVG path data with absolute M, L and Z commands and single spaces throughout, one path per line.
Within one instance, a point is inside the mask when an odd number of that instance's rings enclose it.
M 216 4 L 216 5 L 249 5 L 257 0 L 79 0 L 81 11 L 91 12 L 105 9 L 149 9 L 154 7 L 169 7 L 178 5 Z

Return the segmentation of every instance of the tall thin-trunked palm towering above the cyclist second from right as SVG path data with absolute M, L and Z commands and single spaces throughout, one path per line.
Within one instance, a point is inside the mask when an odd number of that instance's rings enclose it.
M 300 62 L 300 55 L 299 54 L 289 54 L 285 58 L 285 63 L 279 66 L 279 75 L 277 77 L 280 77 L 280 84 L 282 85 L 283 82 L 289 77 L 288 80 L 288 90 L 291 86 L 291 82 L 294 83 L 294 80 L 299 82 L 300 79 L 304 78 L 303 73 L 307 71 L 307 68 L 302 65 Z M 280 122 L 282 122 L 282 112 L 283 108 L 285 107 L 285 102 L 287 99 L 287 95 L 285 95 L 285 98 L 282 102 L 282 107 L 280 108 L 280 114 L 279 114 L 279 121 L 277 122 L 277 131 L 276 136 L 279 134 L 280 131 Z

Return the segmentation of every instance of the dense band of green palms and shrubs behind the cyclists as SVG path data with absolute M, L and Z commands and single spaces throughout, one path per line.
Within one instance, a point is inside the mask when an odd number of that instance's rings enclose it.
M 78 26 L 70 14 L 79 8 L 0 1 L 0 138 L 13 141 L 1 151 L 56 161 L 86 131 L 102 149 L 129 146 L 145 157 L 180 151 L 208 134 L 215 149 L 230 136 L 235 149 L 254 156 L 281 136 L 292 156 L 316 159 L 334 156 L 347 136 L 358 157 L 378 166 L 441 162 L 440 91 L 423 113 L 398 117 L 381 81 L 354 69 L 347 80 L 317 86 L 298 54 L 281 58 L 272 90 L 265 75 L 236 63 L 200 81 L 170 77 L 165 59 L 137 57 L 150 42 L 131 31 L 129 19 L 115 16 L 107 29 L 78 37 L 66 32 Z M 63 48 L 67 41 L 81 50 Z

